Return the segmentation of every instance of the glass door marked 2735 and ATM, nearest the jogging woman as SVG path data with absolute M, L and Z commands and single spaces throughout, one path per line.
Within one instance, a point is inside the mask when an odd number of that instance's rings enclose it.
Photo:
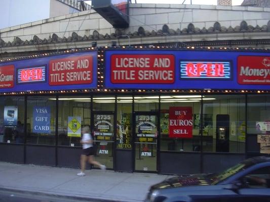
M 114 115 L 94 113 L 93 136 L 97 145 L 96 161 L 113 169 Z

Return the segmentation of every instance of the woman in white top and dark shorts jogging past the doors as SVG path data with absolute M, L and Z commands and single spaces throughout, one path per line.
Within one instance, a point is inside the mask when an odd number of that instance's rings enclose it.
M 83 144 L 83 153 L 81 155 L 81 172 L 78 173 L 78 176 L 85 176 L 85 165 L 88 161 L 89 164 L 93 164 L 98 166 L 101 170 L 106 170 L 106 166 L 101 165 L 99 162 L 95 161 L 94 154 L 95 149 L 93 147 L 93 138 L 90 134 L 89 126 L 84 126 L 82 128 L 82 140 L 81 143 Z

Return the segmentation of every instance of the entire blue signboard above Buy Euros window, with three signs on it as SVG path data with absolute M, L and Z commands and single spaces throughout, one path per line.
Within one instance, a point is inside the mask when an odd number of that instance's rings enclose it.
M 221 51 L 105 51 L 112 89 L 269 89 L 270 54 Z

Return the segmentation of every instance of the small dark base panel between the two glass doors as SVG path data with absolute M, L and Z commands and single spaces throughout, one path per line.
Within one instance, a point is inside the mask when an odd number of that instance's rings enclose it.
M 116 151 L 115 171 L 132 172 L 131 150 Z

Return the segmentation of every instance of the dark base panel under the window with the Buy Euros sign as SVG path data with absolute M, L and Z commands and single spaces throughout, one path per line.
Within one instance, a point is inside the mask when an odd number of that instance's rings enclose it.
M 200 153 L 163 153 L 160 154 L 161 174 L 200 173 Z

